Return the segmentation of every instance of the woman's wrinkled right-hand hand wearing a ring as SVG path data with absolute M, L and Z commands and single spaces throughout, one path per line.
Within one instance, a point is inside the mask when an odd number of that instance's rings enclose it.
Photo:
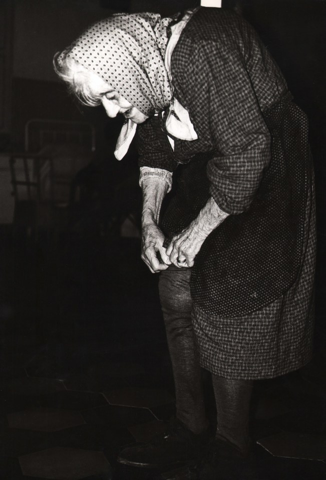
M 170 261 L 179 268 L 193 266 L 195 256 L 199 252 L 206 235 L 200 234 L 197 229 L 190 224 L 181 233 L 175 235 L 166 249 L 166 254 Z M 186 260 L 185 262 L 178 262 Z

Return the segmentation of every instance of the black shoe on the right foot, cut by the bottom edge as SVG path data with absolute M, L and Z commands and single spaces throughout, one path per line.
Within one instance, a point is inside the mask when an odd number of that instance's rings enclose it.
M 257 480 L 256 459 L 228 440 L 215 440 L 214 449 L 197 468 L 198 480 Z

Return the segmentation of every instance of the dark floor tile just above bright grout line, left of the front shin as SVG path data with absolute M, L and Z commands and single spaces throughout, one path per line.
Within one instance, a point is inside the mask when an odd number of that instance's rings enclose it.
M 166 403 L 172 403 L 174 398 L 165 390 L 150 388 L 120 388 L 104 392 L 111 405 L 135 406 L 150 408 Z

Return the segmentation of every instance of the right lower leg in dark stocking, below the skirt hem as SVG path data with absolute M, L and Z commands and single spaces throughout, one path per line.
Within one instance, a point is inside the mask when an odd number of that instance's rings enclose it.
M 212 374 L 217 409 L 217 439 L 227 439 L 241 453 L 249 450 L 249 410 L 253 380 L 230 380 Z

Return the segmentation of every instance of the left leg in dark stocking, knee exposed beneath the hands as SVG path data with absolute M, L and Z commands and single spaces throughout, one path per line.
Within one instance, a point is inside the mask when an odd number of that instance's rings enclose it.
M 160 273 L 159 292 L 172 362 L 176 416 L 192 432 L 207 428 L 201 368 L 191 322 L 190 268 L 170 266 Z

